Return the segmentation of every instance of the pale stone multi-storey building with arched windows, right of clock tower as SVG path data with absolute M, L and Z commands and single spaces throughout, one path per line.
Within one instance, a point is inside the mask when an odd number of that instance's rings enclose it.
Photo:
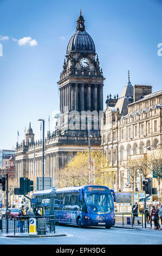
M 101 120 L 101 147 L 112 167 L 110 170 L 114 172 L 114 190 L 132 189 L 126 181 L 128 174 L 124 162 L 161 150 L 161 111 L 162 90 L 152 93 L 151 86 L 133 87 L 128 74 L 128 82 L 119 100 L 115 106 L 107 106 Z M 136 180 L 139 191 L 141 181 Z M 153 186 L 158 187 L 155 179 Z

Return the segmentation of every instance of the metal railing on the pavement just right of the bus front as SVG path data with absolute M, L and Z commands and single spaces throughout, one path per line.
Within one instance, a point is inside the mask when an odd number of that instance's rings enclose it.
M 144 220 L 145 215 L 142 213 L 138 214 L 138 216 L 135 216 L 134 214 L 132 214 L 132 212 L 115 213 L 115 225 L 122 225 L 122 227 L 138 226 L 144 228 Z

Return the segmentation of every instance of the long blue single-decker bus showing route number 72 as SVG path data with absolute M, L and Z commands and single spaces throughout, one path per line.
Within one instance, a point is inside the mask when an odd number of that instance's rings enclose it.
M 73 224 L 79 228 L 102 226 L 108 229 L 115 225 L 116 195 L 106 186 L 37 191 L 33 193 L 33 202 L 44 206 L 45 215 L 54 214 L 56 223 Z

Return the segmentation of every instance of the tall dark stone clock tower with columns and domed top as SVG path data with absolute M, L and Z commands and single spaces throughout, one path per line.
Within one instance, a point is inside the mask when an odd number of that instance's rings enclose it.
M 91 36 L 85 31 L 85 20 L 80 11 L 76 32 L 69 41 L 58 82 L 61 133 L 69 131 L 68 124 L 72 118 L 72 111 L 80 113 L 80 124 L 74 129 L 77 136 L 80 136 L 84 130 L 81 126 L 81 114 L 95 111 L 99 117 L 99 112 L 103 110 L 103 80 L 105 78 L 100 69 L 95 45 Z M 94 128 L 96 130 L 92 121 L 92 130 Z M 87 115 L 85 130 L 87 130 Z

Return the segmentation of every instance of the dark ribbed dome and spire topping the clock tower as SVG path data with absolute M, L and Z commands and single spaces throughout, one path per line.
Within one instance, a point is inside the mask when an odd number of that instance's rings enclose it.
M 81 15 L 77 19 L 76 32 L 69 41 L 67 54 L 70 52 L 95 53 L 95 45 L 92 37 L 85 31 L 85 20 Z

